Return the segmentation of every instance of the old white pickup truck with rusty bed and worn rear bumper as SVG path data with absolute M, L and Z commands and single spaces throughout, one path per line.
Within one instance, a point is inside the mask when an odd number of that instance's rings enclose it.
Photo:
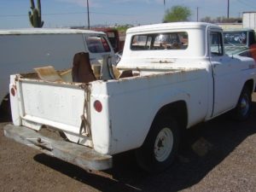
M 4 134 L 92 170 L 111 168 L 114 154 L 136 149 L 139 166 L 160 172 L 192 125 L 230 110 L 236 119 L 248 118 L 255 67 L 252 58 L 224 53 L 218 26 L 137 26 L 127 31 L 117 66 L 126 75 L 119 78 L 85 84 L 12 75 L 13 125 Z M 45 136 L 45 127 L 65 139 Z

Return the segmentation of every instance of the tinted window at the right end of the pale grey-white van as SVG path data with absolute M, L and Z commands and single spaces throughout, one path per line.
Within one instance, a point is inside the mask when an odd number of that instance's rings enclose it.
M 102 36 L 89 36 L 86 38 L 86 44 L 91 53 L 104 53 L 111 50 L 107 39 Z

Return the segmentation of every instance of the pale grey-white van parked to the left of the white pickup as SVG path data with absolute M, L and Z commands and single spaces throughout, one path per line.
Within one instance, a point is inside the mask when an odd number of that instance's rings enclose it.
M 79 51 L 89 52 L 92 64 L 103 55 L 114 55 L 105 33 L 78 29 L 1 30 L 0 50 L 0 118 L 9 115 L 10 74 L 28 73 L 49 63 L 59 70 L 69 68 Z

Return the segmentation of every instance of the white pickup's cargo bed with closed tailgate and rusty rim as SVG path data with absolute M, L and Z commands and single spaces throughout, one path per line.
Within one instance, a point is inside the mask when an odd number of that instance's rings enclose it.
M 120 69 L 121 72 L 122 70 L 131 70 L 134 75 L 123 79 L 96 80 L 88 84 L 50 82 L 38 78 L 34 73 L 14 76 L 13 84 L 16 86 L 17 98 L 12 102 L 16 100 L 13 106 L 18 108 L 14 112 L 19 113 L 13 113 L 13 119 L 16 117 L 21 121 L 17 121 L 15 125 L 23 125 L 36 131 L 44 126 L 53 127 L 63 132 L 70 142 L 95 148 L 102 154 L 116 154 L 143 142 L 139 138 L 146 137 L 151 124 L 151 121 L 146 119 L 154 119 L 158 110 L 153 109 L 153 106 L 149 107 L 149 103 L 161 105 L 162 102 L 172 102 L 170 99 L 176 98 L 177 95 L 187 98 L 189 95 L 183 90 L 190 91 L 192 87 L 189 84 L 195 82 L 196 86 L 200 87 L 207 84 L 207 81 L 201 81 L 206 79 L 206 71 L 201 68 L 164 69 L 161 65 L 159 68 Z M 198 84 L 199 82 L 201 83 Z M 157 99 L 160 95 L 161 99 Z M 204 103 L 206 95 L 207 93 L 198 93 L 196 96 L 190 96 L 190 99 Z M 104 110 L 101 113 L 96 112 L 94 106 L 97 100 L 102 102 Z M 122 107 L 124 101 L 125 111 Z M 139 110 L 144 113 L 143 117 L 137 119 L 132 106 L 141 106 Z M 153 110 L 143 112 L 143 108 Z M 191 108 L 197 108 L 196 103 L 192 103 Z M 193 117 L 201 118 L 202 113 L 205 111 L 201 110 L 193 114 Z M 86 129 L 81 127 L 83 119 L 86 121 Z M 133 127 L 131 132 L 123 122 L 133 121 L 132 119 L 136 120 L 130 123 Z M 141 125 L 138 122 L 144 123 Z M 109 132 L 109 129 L 112 132 Z M 134 133 L 141 136 L 133 138 L 135 142 L 131 143 L 127 138 L 132 137 Z M 122 144 L 117 145 L 115 138 L 119 138 L 118 141 L 122 141 Z

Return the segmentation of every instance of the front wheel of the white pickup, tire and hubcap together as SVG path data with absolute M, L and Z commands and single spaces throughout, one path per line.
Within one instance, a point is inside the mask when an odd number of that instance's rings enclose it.
M 236 104 L 236 108 L 233 109 L 233 119 L 244 121 L 249 118 L 252 109 L 252 92 L 245 86 L 241 90 L 241 95 Z

